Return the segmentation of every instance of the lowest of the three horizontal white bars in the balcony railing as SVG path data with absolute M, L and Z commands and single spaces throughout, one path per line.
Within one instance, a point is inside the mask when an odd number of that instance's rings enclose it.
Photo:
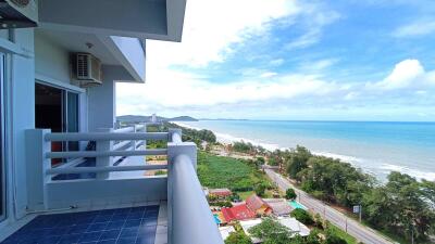
M 167 169 L 167 165 L 132 165 L 132 166 L 105 166 L 105 167 L 75 167 L 75 168 L 49 168 L 47 175 L 58 174 L 84 174 L 84 172 L 115 172 Z

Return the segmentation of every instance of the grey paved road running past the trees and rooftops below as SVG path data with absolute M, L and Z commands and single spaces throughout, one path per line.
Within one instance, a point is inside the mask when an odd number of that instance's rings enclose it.
M 346 217 L 338 210 L 325 205 L 322 201 L 315 200 L 308 195 L 306 192 L 300 191 L 293 187 L 293 184 L 272 169 L 264 169 L 269 178 L 271 178 L 279 189 L 283 191 L 288 188 L 294 188 L 298 195 L 298 202 L 308 207 L 310 210 L 320 214 L 324 219 L 339 227 L 350 235 L 355 236 L 358 241 L 365 244 L 391 244 L 393 242 L 386 240 L 377 234 L 374 230 L 360 224 L 358 221 Z

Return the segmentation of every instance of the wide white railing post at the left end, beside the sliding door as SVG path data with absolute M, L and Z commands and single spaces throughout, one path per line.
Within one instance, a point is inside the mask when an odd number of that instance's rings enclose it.
M 47 170 L 51 168 L 51 159 L 47 157 L 47 153 L 51 152 L 51 142 L 45 138 L 50 132 L 50 129 L 29 129 L 25 132 L 27 208 L 32 210 L 49 208 L 47 183 L 51 181 L 51 176 L 47 175 Z

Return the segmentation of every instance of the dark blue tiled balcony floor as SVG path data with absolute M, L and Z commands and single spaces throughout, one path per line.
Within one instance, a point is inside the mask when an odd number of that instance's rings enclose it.
M 153 244 L 159 206 L 41 215 L 2 244 Z

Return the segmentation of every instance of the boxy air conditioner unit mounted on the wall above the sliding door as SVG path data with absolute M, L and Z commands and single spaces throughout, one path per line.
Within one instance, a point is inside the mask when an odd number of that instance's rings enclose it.
M 101 62 L 90 53 L 75 54 L 75 76 L 80 87 L 94 87 L 102 84 Z

